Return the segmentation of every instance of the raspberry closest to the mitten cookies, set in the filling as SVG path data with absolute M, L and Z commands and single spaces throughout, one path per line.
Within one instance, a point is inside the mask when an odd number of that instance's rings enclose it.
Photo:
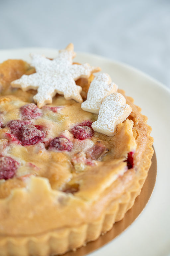
M 78 140 L 85 140 L 87 138 L 91 138 L 94 134 L 93 129 L 87 125 L 75 126 L 71 129 L 71 132 L 74 135 L 74 138 Z

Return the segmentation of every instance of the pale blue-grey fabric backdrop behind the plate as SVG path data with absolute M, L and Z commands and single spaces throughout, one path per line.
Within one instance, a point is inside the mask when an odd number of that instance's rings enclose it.
M 169 0 L 0 0 L 0 49 L 62 49 L 70 42 L 170 88 Z

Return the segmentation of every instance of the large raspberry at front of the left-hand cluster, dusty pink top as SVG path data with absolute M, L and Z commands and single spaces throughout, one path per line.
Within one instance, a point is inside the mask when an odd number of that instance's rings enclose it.
M 22 142 L 22 146 L 37 144 L 44 137 L 44 132 L 38 130 L 34 125 L 25 124 L 21 128 L 20 141 Z

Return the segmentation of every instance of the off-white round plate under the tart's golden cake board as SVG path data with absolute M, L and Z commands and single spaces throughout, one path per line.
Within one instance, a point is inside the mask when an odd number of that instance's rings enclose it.
M 11 59 L 30 61 L 29 53 L 55 57 L 57 50 L 27 48 L 0 51 L 0 62 Z M 140 216 L 121 235 L 90 256 L 170 255 L 170 91 L 148 75 L 128 65 L 99 56 L 78 53 L 75 61 L 100 66 L 148 116 L 157 156 L 157 181 L 150 201 Z

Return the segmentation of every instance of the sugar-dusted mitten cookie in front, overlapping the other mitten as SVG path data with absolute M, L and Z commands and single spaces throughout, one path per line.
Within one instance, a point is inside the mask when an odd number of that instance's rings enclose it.
M 97 121 L 92 123 L 94 131 L 113 136 L 116 125 L 122 123 L 131 113 L 131 107 L 121 93 L 112 93 L 102 102 Z

